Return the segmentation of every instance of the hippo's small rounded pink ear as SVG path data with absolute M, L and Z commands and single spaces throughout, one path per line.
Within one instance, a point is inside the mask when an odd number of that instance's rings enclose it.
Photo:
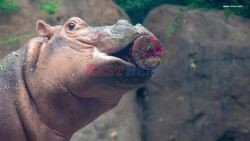
M 36 23 L 36 30 L 40 36 L 50 38 L 53 35 L 53 27 L 47 24 L 43 20 L 39 20 Z

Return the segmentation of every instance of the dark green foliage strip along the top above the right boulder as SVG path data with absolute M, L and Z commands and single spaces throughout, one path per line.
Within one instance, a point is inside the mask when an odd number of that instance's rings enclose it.
M 113 0 L 129 15 L 133 23 L 143 22 L 148 12 L 162 4 L 176 4 L 201 11 L 209 9 L 226 10 L 225 13 L 250 18 L 250 0 Z M 242 8 L 224 8 L 223 5 L 242 5 Z

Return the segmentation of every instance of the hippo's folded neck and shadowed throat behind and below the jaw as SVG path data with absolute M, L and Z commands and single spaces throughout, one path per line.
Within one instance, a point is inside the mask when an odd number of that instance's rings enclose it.
M 25 92 L 23 92 L 24 96 L 20 97 L 20 101 L 29 101 L 30 103 L 23 103 L 20 109 L 23 111 L 22 114 L 28 129 L 32 129 L 30 132 L 35 132 L 31 134 L 37 136 L 56 134 L 59 139 L 60 137 L 69 139 L 74 132 L 114 105 L 106 105 L 94 98 L 79 99 L 67 93 L 68 91 L 65 92 L 61 85 L 51 91 L 47 87 L 48 84 L 43 83 L 46 81 L 42 81 L 42 79 L 47 80 L 49 77 L 46 76 L 46 73 L 42 73 L 44 69 L 40 69 L 44 67 L 41 60 L 43 60 L 43 56 L 50 53 L 51 46 L 46 40 L 42 43 L 39 43 L 40 41 L 42 40 L 38 38 L 30 41 L 26 51 L 25 65 L 22 69 L 23 80 L 26 82 L 22 88 Z M 36 47 L 32 44 L 34 42 Z M 32 111 L 24 111 L 23 109 L 32 109 Z M 30 118 L 27 115 L 33 117 Z M 37 125 L 40 127 L 42 125 L 43 131 L 37 128 Z M 56 139 L 48 140 L 56 141 Z

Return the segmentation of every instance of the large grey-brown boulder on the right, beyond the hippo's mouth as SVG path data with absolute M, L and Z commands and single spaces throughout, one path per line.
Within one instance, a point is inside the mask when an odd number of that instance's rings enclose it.
M 250 21 L 164 5 L 144 25 L 166 52 L 141 94 L 142 140 L 250 140 Z

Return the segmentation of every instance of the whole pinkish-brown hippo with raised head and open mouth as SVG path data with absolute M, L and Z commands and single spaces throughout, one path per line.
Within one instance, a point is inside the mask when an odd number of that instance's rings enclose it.
M 0 62 L 2 141 L 70 140 L 127 91 L 145 83 L 162 54 L 151 32 L 123 19 L 101 27 L 78 17 L 58 26 L 39 20 L 36 30 L 39 36 Z M 157 48 L 149 51 L 144 42 L 151 40 Z M 139 50 L 132 52 L 138 63 L 129 57 L 133 46 Z M 138 57 L 140 50 L 151 53 Z

